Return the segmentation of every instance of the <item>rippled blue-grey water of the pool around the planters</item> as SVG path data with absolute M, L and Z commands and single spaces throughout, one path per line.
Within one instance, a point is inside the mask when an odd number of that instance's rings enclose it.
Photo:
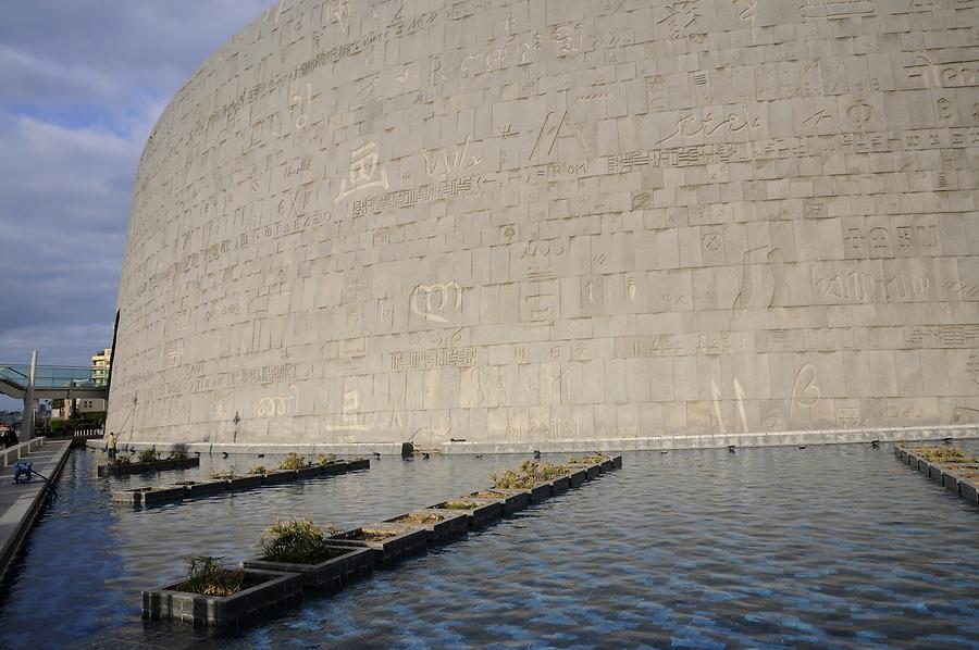
M 219 639 L 142 622 L 140 589 L 181 577 L 190 554 L 252 554 L 276 518 L 369 523 L 485 487 L 521 459 L 385 457 L 367 472 L 132 510 L 110 490 L 207 476 L 231 460 L 106 479 L 99 454 L 74 451 L 3 586 L 0 648 L 979 647 L 979 508 L 897 463 L 890 446 L 624 459 L 468 539 Z

